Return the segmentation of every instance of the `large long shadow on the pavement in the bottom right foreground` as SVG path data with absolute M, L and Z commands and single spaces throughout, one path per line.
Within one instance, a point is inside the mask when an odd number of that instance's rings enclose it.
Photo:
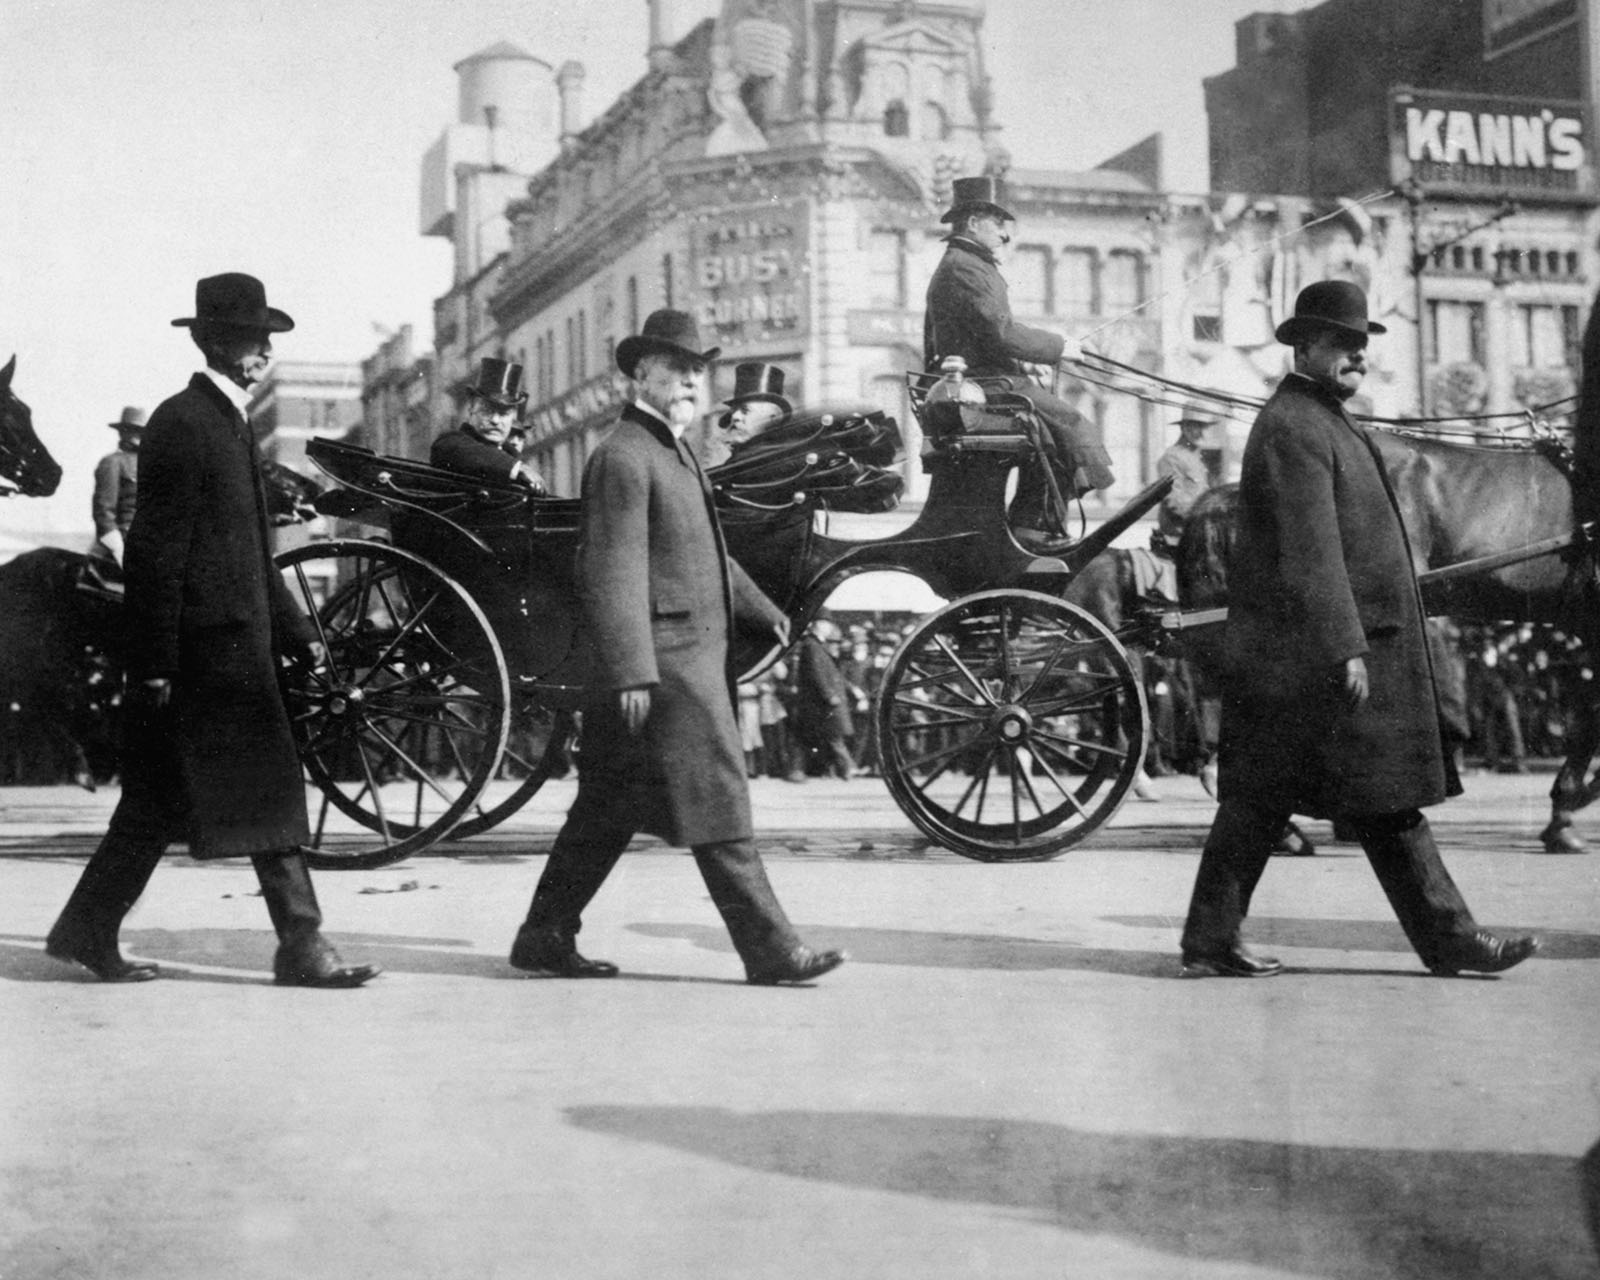
M 1371 1280 L 1586 1277 L 1578 1162 L 1235 1138 L 1085 1133 L 986 1117 L 570 1107 L 592 1133 L 757 1173 L 992 1205 L 1174 1258 Z

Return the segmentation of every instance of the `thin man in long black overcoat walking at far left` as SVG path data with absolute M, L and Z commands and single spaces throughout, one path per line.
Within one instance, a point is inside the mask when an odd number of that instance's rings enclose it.
M 157 966 L 122 957 L 122 918 L 166 846 L 248 856 L 278 934 L 280 986 L 355 987 L 322 936 L 301 846 L 306 784 L 278 677 L 285 654 L 325 654 L 272 563 L 266 493 L 245 419 L 272 334 L 294 328 L 251 275 L 195 286 L 187 326 L 205 368 L 150 414 L 126 544 L 126 739 L 122 798 L 45 949 L 107 982 Z

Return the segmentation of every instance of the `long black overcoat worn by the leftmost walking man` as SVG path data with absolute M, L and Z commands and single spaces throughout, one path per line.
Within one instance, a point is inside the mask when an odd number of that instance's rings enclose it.
M 128 829 L 195 858 L 306 842 L 278 659 L 310 624 L 272 566 L 250 429 L 205 374 L 150 414 L 126 579 L 130 686 L 173 682 L 165 710 L 130 699 Z

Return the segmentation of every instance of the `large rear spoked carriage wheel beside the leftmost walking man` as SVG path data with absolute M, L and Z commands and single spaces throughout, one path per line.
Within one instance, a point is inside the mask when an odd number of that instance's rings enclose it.
M 277 563 L 328 646 L 326 667 L 299 667 L 288 685 L 301 763 L 322 792 L 307 861 L 387 866 L 482 813 L 510 696 L 472 597 L 384 542 L 314 542 Z

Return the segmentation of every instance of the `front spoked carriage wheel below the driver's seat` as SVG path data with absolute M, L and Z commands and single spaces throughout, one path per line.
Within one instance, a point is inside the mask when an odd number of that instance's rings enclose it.
M 1027 590 L 968 595 L 901 643 L 878 691 L 890 794 L 986 862 L 1053 858 L 1122 805 L 1144 755 L 1144 686 L 1083 610 Z

